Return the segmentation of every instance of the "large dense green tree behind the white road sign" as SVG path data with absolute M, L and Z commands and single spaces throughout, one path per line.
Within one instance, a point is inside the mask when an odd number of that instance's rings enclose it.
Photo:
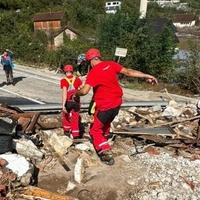
M 169 23 L 162 31 L 155 32 L 150 21 L 123 12 L 105 17 L 99 26 L 98 46 L 107 58 L 113 57 L 117 46 L 127 48 L 122 64 L 167 80 L 174 67 L 173 28 Z

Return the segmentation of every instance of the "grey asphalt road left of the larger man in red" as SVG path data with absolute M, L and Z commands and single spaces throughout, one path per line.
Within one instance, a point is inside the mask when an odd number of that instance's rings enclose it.
M 61 104 L 62 90 L 59 81 L 62 74 L 44 69 L 17 65 L 14 69 L 15 85 L 5 84 L 5 74 L 0 68 L 0 103 L 9 105 Z M 89 102 L 91 95 L 82 98 Z

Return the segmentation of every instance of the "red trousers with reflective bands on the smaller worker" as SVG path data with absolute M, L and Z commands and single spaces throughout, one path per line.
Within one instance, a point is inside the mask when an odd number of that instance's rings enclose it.
M 62 127 L 64 131 L 70 131 L 73 138 L 80 136 L 79 122 L 79 111 L 71 110 L 69 113 L 62 112 Z

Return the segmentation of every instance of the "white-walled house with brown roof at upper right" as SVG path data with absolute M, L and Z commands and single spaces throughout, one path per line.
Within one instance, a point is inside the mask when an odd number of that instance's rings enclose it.
M 196 16 L 193 14 L 177 14 L 173 16 L 172 21 L 177 28 L 193 27 L 196 24 Z

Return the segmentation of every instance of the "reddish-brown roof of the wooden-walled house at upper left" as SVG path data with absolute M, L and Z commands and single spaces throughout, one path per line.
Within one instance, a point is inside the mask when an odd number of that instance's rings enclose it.
M 39 21 L 62 20 L 63 17 L 64 17 L 63 12 L 38 13 L 33 16 L 33 21 L 39 22 Z

